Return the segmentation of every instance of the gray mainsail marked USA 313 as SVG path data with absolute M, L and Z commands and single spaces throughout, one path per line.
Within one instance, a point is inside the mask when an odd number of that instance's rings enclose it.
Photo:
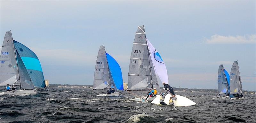
M 104 46 L 100 46 L 93 80 L 93 89 L 104 89 L 110 86 L 108 62 Z

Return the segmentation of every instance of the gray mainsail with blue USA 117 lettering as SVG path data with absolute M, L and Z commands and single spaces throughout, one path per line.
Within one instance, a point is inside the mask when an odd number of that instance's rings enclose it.
M 7 31 L 4 36 L 0 56 L 0 86 L 14 84 L 19 79 L 12 34 Z

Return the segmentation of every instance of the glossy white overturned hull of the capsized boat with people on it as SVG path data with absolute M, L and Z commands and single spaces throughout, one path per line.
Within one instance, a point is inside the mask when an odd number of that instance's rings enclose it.
M 164 103 L 167 104 L 167 105 L 174 105 L 174 106 L 193 106 L 193 105 L 197 105 L 195 102 L 193 102 L 192 100 L 186 98 L 186 97 L 183 97 L 183 96 L 180 96 L 180 95 L 177 95 L 176 94 L 176 100 L 173 100 L 171 101 L 171 104 L 170 104 L 170 98 L 171 98 L 171 94 L 168 93 L 166 96 L 165 96 L 165 99 L 164 99 Z M 172 103 L 173 102 L 173 103 Z M 156 96 L 156 99 L 154 99 L 151 103 L 153 104 L 157 104 L 157 105 L 161 105 L 160 104 L 160 95 L 157 95 Z

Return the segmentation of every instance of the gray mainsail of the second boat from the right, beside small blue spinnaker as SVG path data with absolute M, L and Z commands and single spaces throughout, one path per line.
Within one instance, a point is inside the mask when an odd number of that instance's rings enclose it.
M 218 71 L 218 94 L 228 93 L 227 79 L 224 72 L 223 65 L 219 66 Z

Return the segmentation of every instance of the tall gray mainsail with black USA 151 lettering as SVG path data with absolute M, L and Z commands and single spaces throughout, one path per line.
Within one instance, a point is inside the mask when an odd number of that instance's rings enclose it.
M 134 38 L 128 72 L 128 89 L 152 88 L 148 46 L 144 26 L 139 26 Z

